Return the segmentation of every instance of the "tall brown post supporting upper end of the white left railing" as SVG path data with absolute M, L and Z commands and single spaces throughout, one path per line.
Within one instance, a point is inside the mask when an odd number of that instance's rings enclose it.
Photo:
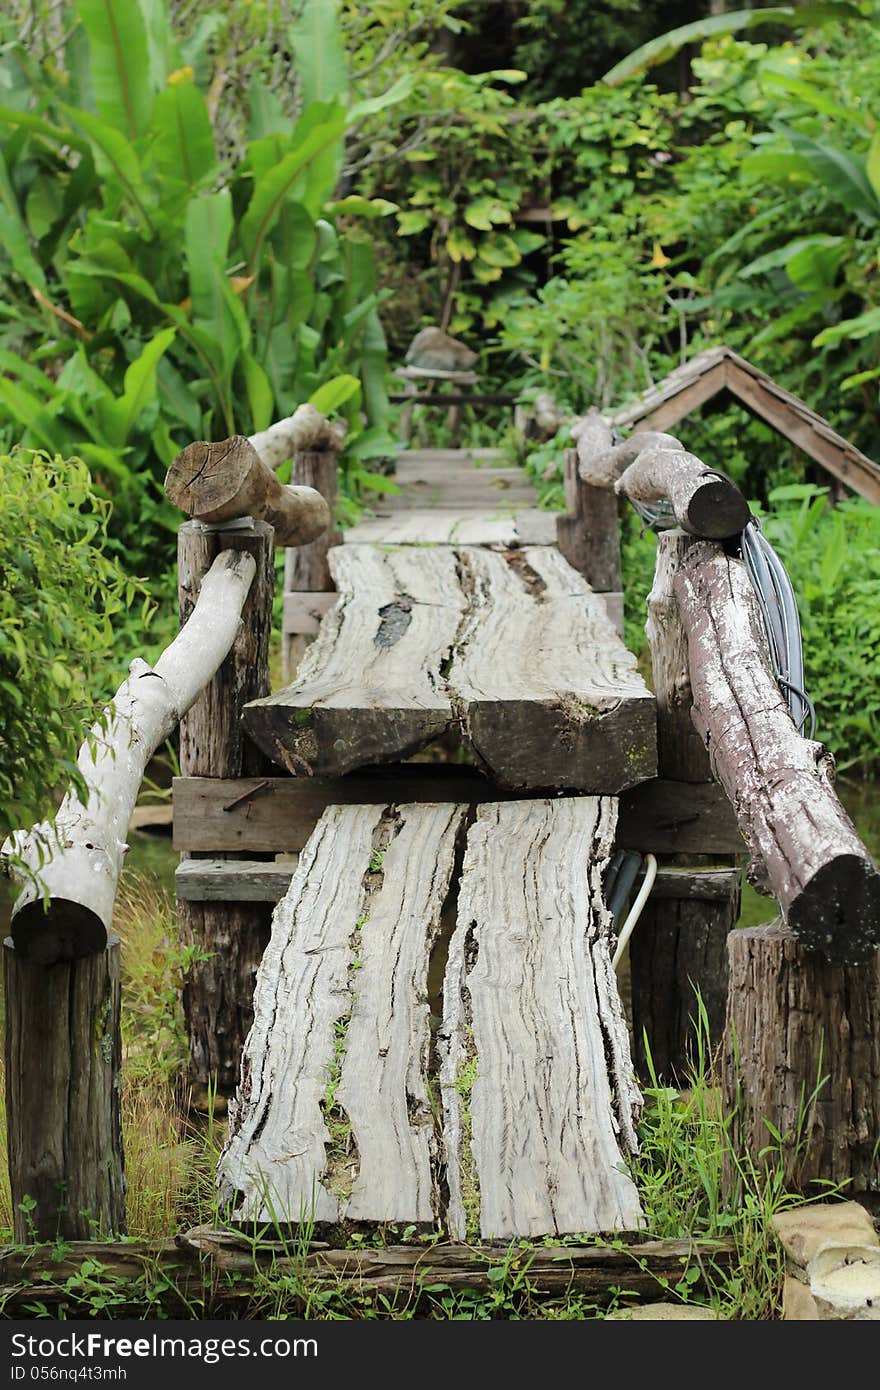
M 242 612 L 232 651 L 181 720 L 184 777 L 259 777 L 268 769 L 241 723 L 250 699 L 268 695 L 268 642 L 274 596 L 274 532 L 266 521 L 253 530 L 215 531 L 189 521 L 178 532 L 181 626 L 199 596 L 202 578 L 221 549 L 246 550 L 257 573 Z M 235 853 L 211 859 L 235 859 Z M 268 941 L 271 905 L 266 902 L 178 901 L 181 941 L 193 951 L 184 986 L 189 1033 L 189 1080 L 202 1098 L 209 1086 L 229 1095 L 238 1083 L 241 1049 L 253 1019 L 253 986 Z

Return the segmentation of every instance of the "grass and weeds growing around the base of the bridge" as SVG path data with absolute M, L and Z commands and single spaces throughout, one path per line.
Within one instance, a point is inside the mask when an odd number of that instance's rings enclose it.
M 122 885 L 117 929 L 122 940 L 122 1123 L 129 1234 L 161 1240 L 189 1226 L 224 1223 L 213 1187 L 222 1122 L 214 1119 L 210 1105 L 206 1118 L 193 1120 L 188 1106 L 179 998 L 181 977 L 190 958 L 178 944 L 172 903 L 157 880 L 138 876 Z M 658 1289 L 658 1298 L 708 1301 L 727 1319 L 770 1319 L 779 1316 L 783 1277 L 772 1218 L 804 1198 L 784 1190 L 781 1137 L 758 1165 L 734 1151 L 731 1118 L 722 1109 L 706 1015 L 699 999 L 695 1016 L 690 1084 L 683 1091 L 673 1090 L 652 1073 L 639 1127 L 641 1154 L 630 1166 L 646 1216 L 645 1234 L 652 1238 L 692 1237 L 701 1243 L 733 1241 L 735 1258 L 730 1268 L 722 1268 L 702 1257 L 683 1268 L 673 1286 Z M 471 1084 L 473 1076 L 466 1068 L 457 1081 L 466 1111 Z M 815 1094 L 805 1098 L 805 1115 Z M 797 1136 L 794 1140 L 797 1143 Z M 0 1223 L 11 1232 L 3 1109 L 0 1147 Z M 730 1198 L 731 1191 L 735 1200 Z M 813 1200 L 836 1194 L 827 1190 Z M 478 1200 L 478 1194 L 470 1195 Z M 609 1311 L 576 1293 L 541 1295 L 530 1279 L 538 1247 L 527 1241 L 513 1243 L 499 1252 L 491 1265 L 488 1290 L 453 1290 L 442 1282 L 425 1282 L 414 1294 L 392 1301 L 307 1269 L 307 1225 L 295 1237 L 278 1223 L 261 1234 L 281 1241 L 284 1259 L 260 1272 L 246 1308 L 236 1309 L 238 1316 L 571 1320 L 601 1318 Z M 439 1233 L 425 1236 L 410 1230 L 406 1234 L 428 1245 L 442 1238 Z M 260 1233 L 253 1238 L 259 1244 Z M 400 1237 L 396 1232 L 359 1232 L 352 1236 L 352 1244 L 382 1245 L 386 1238 Z M 577 1237 L 577 1243 L 624 1248 L 623 1241 L 589 1236 Z M 638 1250 L 628 1244 L 626 1248 L 637 1265 Z M 167 1291 L 167 1277 L 157 1269 L 145 1270 L 136 1284 L 122 1287 L 96 1266 L 74 1279 L 68 1289 L 70 1312 L 106 1318 L 117 1311 L 131 1316 L 133 1309 L 135 1315 L 154 1316 L 163 1289 Z M 193 1307 L 192 1316 L 204 1315 L 206 1300 L 210 1302 L 210 1290 Z M 626 1289 L 612 1293 L 612 1308 L 626 1304 Z M 57 1311 L 46 1315 L 56 1316 Z

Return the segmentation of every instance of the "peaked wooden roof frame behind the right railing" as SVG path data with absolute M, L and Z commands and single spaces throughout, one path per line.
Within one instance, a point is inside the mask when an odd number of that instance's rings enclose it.
M 880 505 L 880 464 L 731 348 L 708 348 L 698 353 L 619 410 L 612 424 L 633 431 L 669 430 L 720 391 L 728 391 L 749 414 L 790 439 L 845 486 Z

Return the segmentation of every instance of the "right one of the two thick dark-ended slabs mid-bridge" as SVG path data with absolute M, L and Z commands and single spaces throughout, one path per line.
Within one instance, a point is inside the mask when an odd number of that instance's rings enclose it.
M 448 684 L 496 780 L 619 792 L 653 777 L 653 696 L 585 580 L 549 546 L 516 566 L 457 553 L 468 606 Z

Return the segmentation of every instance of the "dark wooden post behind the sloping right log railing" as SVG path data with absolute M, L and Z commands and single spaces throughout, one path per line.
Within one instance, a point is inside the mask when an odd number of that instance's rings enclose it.
M 673 592 L 676 574 L 694 543 L 678 530 L 658 537 L 645 631 L 658 702 L 658 773 L 673 781 L 708 783 L 712 781 L 709 758 L 691 721 L 687 634 Z M 667 862 L 695 863 L 681 856 Z M 658 1077 L 685 1081 L 695 1045 L 695 990 L 706 1011 L 706 1041 L 712 1049 L 720 1044 L 727 1006 L 727 933 L 738 913 L 735 878 L 720 899 L 690 895 L 648 899 L 630 941 L 634 1051 L 642 1077 L 649 1074 L 649 1048 Z

